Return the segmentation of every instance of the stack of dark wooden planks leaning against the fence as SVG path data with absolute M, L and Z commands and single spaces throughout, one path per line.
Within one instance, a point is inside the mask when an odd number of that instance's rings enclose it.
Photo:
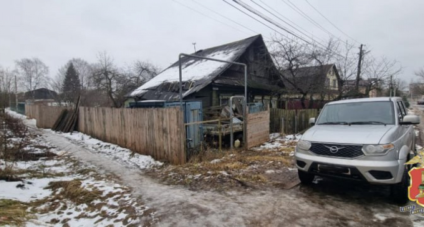
M 77 104 L 73 109 L 64 109 L 56 120 L 55 124 L 51 128 L 57 132 L 69 133 L 75 130 L 78 121 L 78 109 L 81 97 L 78 97 Z

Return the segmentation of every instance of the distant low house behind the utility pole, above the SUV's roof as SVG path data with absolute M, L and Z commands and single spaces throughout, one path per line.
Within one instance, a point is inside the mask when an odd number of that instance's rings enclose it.
M 349 92 L 352 92 L 355 89 L 356 80 L 346 80 L 343 83 L 343 92 L 348 95 Z M 377 97 L 378 95 L 378 79 L 377 78 L 368 78 L 365 80 L 359 80 L 358 90 L 359 93 L 364 95 L 364 97 Z

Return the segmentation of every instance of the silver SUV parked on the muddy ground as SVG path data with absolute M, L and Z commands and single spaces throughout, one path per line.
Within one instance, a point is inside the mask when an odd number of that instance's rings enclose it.
M 300 181 L 315 175 L 392 186 L 392 196 L 408 201 L 408 168 L 415 154 L 413 124 L 399 97 L 360 98 L 327 103 L 299 140 L 295 159 Z

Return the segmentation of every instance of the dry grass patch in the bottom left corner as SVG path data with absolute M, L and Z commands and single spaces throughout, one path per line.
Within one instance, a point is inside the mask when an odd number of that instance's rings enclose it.
M 25 221 L 33 218 L 31 213 L 27 212 L 27 204 L 11 200 L 0 199 L 0 225 L 18 225 L 23 226 Z

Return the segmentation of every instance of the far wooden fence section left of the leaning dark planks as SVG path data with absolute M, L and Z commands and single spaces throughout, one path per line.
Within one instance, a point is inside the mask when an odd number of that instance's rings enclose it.
M 25 116 L 37 120 L 40 129 L 51 129 L 65 106 L 25 105 Z

